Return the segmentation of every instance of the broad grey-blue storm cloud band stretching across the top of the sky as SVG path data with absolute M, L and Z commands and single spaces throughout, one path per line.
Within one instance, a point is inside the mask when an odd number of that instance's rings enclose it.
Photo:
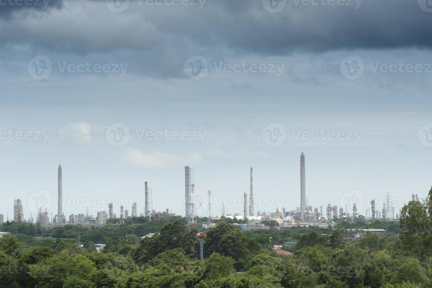
M 278 13 L 268 11 L 267 0 L 206 0 L 202 9 L 166 5 L 174 0 L 152 0 L 162 5 L 151 6 L 143 1 L 130 0 L 125 12 L 114 13 L 105 0 L 64 0 L 60 16 L 50 19 L 47 14 L 43 21 L 35 17 L 33 22 L 29 17 L 25 22 L 8 19 L 8 30 L 0 30 L 0 37 L 3 44 L 80 54 L 159 49 L 178 41 L 187 44 L 180 48 L 186 46 L 187 54 L 220 55 L 432 47 L 432 9 L 428 13 L 419 4 L 429 0 L 286 0 Z M 62 1 L 51 0 L 49 5 L 60 7 Z M 36 30 L 38 25 L 42 28 Z

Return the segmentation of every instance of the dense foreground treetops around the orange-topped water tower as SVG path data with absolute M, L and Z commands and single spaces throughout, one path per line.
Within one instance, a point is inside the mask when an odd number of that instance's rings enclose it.
M 299 234 L 294 254 L 286 256 L 273 252 L 271 236 L 263 247 L 255 237 L 259 233 L 242 234 L 222 222 L 207 232 L 201 263 L 197 232 L 176 221 L 137 244 L 108 242 L 100 253 L 90 241 L 80 247 L 75 241 L 57 239 L 31 247 L 14 236 L 3 236 L 0 282 L 4 287 L 53 288 L 425 288 L 431 284 L 431 263 L 410 254 L 396 234 L 367 233 L 352 240 L 345 237 L 345 229 L 330 235 L 308 231 Z

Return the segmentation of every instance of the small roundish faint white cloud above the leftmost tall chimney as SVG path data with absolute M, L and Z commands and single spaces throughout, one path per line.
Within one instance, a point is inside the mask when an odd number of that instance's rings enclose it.
M 63 142 L 85 146 L 92 143 L 90 124 L 84 121 L 68 122 L 60 128 L 60 137 Z

